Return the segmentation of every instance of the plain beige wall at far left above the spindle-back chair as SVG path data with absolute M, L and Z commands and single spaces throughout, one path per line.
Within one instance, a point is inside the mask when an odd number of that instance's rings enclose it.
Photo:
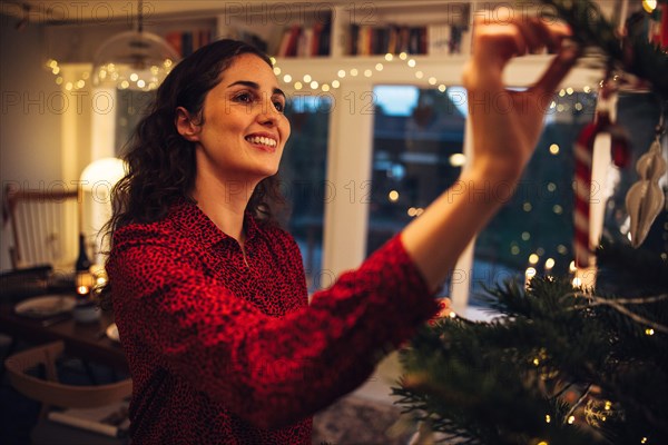
M 37 188 L 62 179 L 60 88 L 41 67 L 40 27 L 16 29 L 17 19 L 0 16 L 0 184 Z M 0 269 L 9 268 L 9 230 L 0 235 Z

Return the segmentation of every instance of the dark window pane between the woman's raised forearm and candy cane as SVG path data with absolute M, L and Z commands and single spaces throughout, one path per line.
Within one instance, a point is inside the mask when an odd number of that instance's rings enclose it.
M 475 240 L 472 305 L 480 305 L 485 286 L 524 279 L 528 267 L 539 275 L 568 273 L 573 255 L 573 145 L 593 118 L 596 96 L 572 92 L 557 99 L 514 195 Z M 504 196 L 508 190 L 490 192 Z

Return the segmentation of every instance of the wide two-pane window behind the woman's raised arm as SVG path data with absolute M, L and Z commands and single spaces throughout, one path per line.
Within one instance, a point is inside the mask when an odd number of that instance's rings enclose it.
M 463 88 L 449 87 L 441 92 L 380 86 L 374 93 L 367 253 L 419 217 L 456 180 L 465 161 Z M 557 99 L 519 188 L 475 240 L 470 304 L 480 305 L 477 296 L 485 286 L 513 277 L 523 279 L 530 265 L 538 273 L 568 270 L 572 256 L 572 146 L 593 117 L 596 97 L 571 92 Z M 445 294 L 450 285 L 445 284 Z

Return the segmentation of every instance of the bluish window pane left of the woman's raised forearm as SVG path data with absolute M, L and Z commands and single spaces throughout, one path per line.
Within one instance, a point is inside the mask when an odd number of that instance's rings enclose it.
M 459 177 L 465 91 L 377 86 L 367 254 L 399 233 Z

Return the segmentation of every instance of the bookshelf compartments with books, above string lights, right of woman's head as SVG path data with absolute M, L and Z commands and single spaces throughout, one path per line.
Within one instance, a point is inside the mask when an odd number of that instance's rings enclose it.
M 432 0 L 238 4 L 217 16 L 216 36 L 255 34 L 266 42 L 269 55 L 289 58 L 466 53 L 473 3 Z

